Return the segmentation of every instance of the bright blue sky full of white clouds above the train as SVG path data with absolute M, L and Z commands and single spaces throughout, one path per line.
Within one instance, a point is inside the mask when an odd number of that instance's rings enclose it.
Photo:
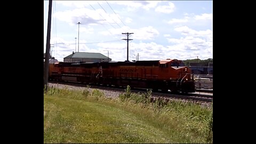
M 44 53 L 49 1 L 44 1 Z M 51 51 L 63 61 L 73 51 L 99 52 L 113 61 L 213 58 L 212 1 L 53 1 Z

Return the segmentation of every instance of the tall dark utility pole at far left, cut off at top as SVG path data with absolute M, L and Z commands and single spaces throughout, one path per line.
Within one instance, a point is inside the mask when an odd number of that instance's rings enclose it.
M 45 52 L 45 65 L 44 65 L 44 88 L 46 90 L 48 88 L 48 76 L 49 76 L 51 20 L 52 20 L 52 0 L 49 0 L 48 23 L 47 23 L 47 37 L 46 37 L 46 52 Z

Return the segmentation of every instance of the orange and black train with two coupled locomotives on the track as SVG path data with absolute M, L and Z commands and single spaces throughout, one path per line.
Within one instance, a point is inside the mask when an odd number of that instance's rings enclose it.
M 191 70 L 177 59 L 136 62 L 55 62 L 49 65 L 50 80 L 195 92 Z

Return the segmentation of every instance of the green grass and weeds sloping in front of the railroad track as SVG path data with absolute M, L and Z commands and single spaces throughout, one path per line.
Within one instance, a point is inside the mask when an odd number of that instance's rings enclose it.
M 44 143 L 212 142 L 211 109 L 130 98 L 106 98 L 99 90 L 51 89 L 44 94 Z

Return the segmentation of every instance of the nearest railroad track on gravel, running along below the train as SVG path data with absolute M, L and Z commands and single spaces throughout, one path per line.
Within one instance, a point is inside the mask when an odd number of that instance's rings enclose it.
M 49 81 L 50 83 L 59 83 L 59 84 L 65 84 L 65 85 L 72 85 L 72 86 L 80 86 L 80 87 L 86 87 L 86 84 L 77 83 L 77 82 L 54 82 Z M 114 92 L 122 92 L 124 93 L 126 87 L 111 87 L 111 86 L 103 86 L 103 85 L 90 85 L 90 88 L 92 89 L 100 89 L 100 90 L 107 90 L 107 91 L 114 91 Z M 146 89 L 131 89 L 132 93 L 145 93 L 147 92 Z M 158 98 L 166 98 L 166 99 L 181 99 L 181 100 L 189 100 L 189 101 L 195 101 L 195 102 L 207 102 L 210 103 L 213 100 L 213 95 L 207 95 L 207 94 L 196 94 L 196 93 L 171 93 L 171 92 L 152 92 L 152 97 L 158 97 Z

